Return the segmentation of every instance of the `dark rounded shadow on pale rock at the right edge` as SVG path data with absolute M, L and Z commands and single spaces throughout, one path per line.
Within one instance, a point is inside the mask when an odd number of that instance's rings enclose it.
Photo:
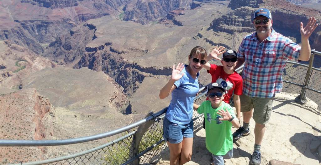
M 295 133 L 290 142 L 304 156 L 321 162 L 321 136 L 308 132 Z

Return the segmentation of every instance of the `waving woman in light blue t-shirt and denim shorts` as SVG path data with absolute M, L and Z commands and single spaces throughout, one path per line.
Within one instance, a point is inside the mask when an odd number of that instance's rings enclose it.
M 163 138 L 170 151 L 170 165 L 191 160 L 193 146 L 193 101 L 198 93 L 199 71 L 206 64 L 206 51 L 195 47 L 188 56 L 188 65 L 173 65 L 171 79 L 160 90 L 160 99 L 172 94 L 163 122 Z

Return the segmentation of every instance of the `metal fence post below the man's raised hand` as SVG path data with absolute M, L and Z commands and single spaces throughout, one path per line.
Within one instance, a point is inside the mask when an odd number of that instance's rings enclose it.
M 310 81 L 310 77 L 311 77 L 311 73 L 312 73 L 312 67 L 313 67 L 313 60 L 314 60 L 314 50 L 312 49 L 313 53 L 311 52 L 311 56 L 310 56 L 310 61 L 309 61 L 309 68 L 307 71 L 307 75 L 304 79 L 304 85 L 302 87 L 301 93 L 299 96 L 297 96 L 295 98 L 295 102 L 299 103 L 299 104 L 305 104 L 307 102 L 307 98 L 305 97 L 305 92 L 307 91 L 307 87 L 309 85 L 309 81 Z

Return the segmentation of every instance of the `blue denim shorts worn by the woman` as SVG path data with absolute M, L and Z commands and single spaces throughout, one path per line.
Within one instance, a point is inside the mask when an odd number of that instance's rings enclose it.
M 165 141 L 169 141 L 169 143 L 180 143 L 183 141 L 183 137 L 193 138 L 193 129 L 193 120 L 188 124 L 176 124 L 164 117 L 163 138 Z

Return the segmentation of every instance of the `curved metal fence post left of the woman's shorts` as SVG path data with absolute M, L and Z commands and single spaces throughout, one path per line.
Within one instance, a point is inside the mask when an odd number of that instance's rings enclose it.
M 164 108 L 164 109 L 165 109 L 165 112 L 166 112 L 167 108 L 168 108 L 168 107 Z M 146 117 L 148 117 L 148 116 L 153 116 L 153 117 L 154 117 L 154 120 L 150 120 L 150 121 L 146 122 L 145 124 L 140 125 L 140 126 L 137 128 L 137 131 L 136 131 L 136 133 L 135 133 L 135 139 L 134 139 L 133 146 L 132 146 L 132 150 L 131 150 L 132 153 L 130 154 L 130 155 L 132 155 L 133 157 L 134 157 L 135 155 L 139 154 L 139 153 L 138 153 L 139 144 L 140 144 L 140 142 L 141 142 L 141 140 L 142 140 L 142 138 L 143 138 L 143 135 L 144 135 L 145 132 L 148 130 L 148 128 L 149 128 L 153 123 L 155 123 L 155 121 L 156 121 L 156 119 L 157 119 L 152 112 L 148 113 L 148 115 L 147 115 Z M 146 117 L 145 117 L 145 118 L 146 118 Z M 139 158 L 136 159 L 136 160 L 134 160 L 134 161 L 133 161 L 133 165 L 139 165 L 139 161 L 140 161 Z

